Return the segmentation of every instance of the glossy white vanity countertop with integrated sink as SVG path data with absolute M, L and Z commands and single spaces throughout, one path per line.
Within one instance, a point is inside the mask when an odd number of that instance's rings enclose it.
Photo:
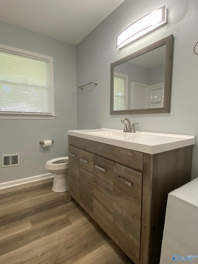
M 110 136 L 110 134 L 112 134 L 112 136 Z M 67 135 L 81 137 L 148 154 L 156 154 L 195 144 L 195 136 L 143 131 L 126 133 L 120 129 L 110 128 L 69 130 L 67 131 Z

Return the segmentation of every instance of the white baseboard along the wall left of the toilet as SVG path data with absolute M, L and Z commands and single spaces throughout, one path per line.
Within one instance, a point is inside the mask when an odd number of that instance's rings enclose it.
M 38 180 L 45 180 L 45 179 L 49 179 L 49 178 L 53 178 L 53 177 L 54 177 L 54 174 L 45 173 L 45 174 L 41 174 L 41 175 L 36 175 L 36 176 L 24 178 L 24 179 L 2 182 L 2 183 L 0 183 L 0 190 L 5 189 L 5 188 L 14 187 L 14 186 L 21 185 L 21 184 L 26 184 L 26 183 L 38 181 Z

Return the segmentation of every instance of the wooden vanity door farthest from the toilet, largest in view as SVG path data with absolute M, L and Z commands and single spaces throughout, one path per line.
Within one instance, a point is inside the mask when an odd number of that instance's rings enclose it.
M 140 260 L 142 173 L 114 163 L 113 233 L 133 262 Z

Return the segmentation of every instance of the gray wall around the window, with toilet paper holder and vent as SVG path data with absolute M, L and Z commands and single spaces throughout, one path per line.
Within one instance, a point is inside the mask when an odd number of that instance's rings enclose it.
M 76 129 L 75 46 L 0 22 L 0 43 L 53 57 L 54 120 L 0 119 L 0 156 L 20 153 L 20 165 L 0 167 L 0 182 L 47 173 L 45 162 L 67 155 L 67 130 Z M 43 149 L 40 140 L 54 139 Z

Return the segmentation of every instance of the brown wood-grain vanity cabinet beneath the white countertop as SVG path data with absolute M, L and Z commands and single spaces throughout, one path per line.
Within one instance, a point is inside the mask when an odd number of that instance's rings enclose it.
M 135 264 L 159 264 L 168 193 L 190 181 L 192 145 L 147 154 L 68 136 L 69 193 Z

